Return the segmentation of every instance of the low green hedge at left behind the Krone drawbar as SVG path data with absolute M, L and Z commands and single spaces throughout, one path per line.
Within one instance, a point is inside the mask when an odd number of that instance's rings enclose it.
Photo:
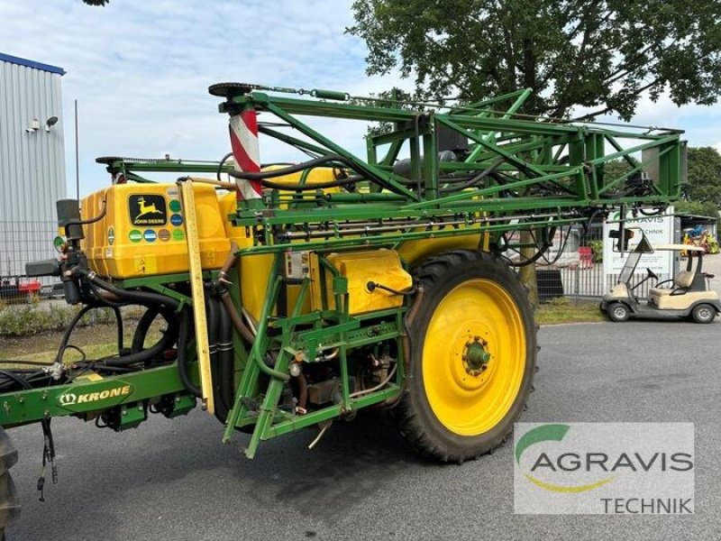
M 59 331 L 68 326 L 72 318 L 78 314 L 78 310 L 78 307 L 56 304 L 45 307 L 39 303 L 0 307 L 0 336 L 37 335 L 48 331 Z M 114 320 L 113 310 L 99 308 L 83 316 L 79 325 L 105 324 Z

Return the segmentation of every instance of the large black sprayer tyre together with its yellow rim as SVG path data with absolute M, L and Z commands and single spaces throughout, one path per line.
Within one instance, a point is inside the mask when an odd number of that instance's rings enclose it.
M 461 463 L 493 451 L 533 388 L 536 326 L 506 261 L 457 251 L 415 271 L 423 289 L 408 326 L 407 390 L 393 410 L 421 454 Z

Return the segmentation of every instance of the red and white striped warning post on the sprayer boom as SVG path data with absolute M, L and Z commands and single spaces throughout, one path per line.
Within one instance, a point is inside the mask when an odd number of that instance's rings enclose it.
M 258 112 L 245 109 L 230 120 L 231 148 L 235 170 L 246 173 L 260 172 L 260 149 L 258 147 Z M 262 197 L 260 180 L 236 179 L 238 199 L 250 201 Z

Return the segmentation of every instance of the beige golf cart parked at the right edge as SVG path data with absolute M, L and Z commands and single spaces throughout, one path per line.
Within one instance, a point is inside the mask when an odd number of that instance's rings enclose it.
M 708 279 L 713 275 L 702 271 L 705 250 L 702 246 L 689 244 L 662 244 L 652 247 L 643 231 L 641 240 L 628 254 L 618 283 L 601 301 L 601 311 L 611 321 L 626 321 L 629 317 L 649 317 L 669 319 L 673 317 L 691 317 L 696 323 L 711 323 L 716 314 L 721 313 L 721 301 L 716 291 L 708 288 Z M 634 237 L 635 231 L 625 231 L 625 245 Z M 659 277 L 651 269 L 646 269 L 646 277 L 631 285 L 634 271 L 644 253 L 655 251 L 686 252 L 686 269 L 676 273 L 671 280 L 659 282 Z M 646 280 L 656 280 L 655 287 L 649 289 L 648 301 L 640 301 L 634 295 Z

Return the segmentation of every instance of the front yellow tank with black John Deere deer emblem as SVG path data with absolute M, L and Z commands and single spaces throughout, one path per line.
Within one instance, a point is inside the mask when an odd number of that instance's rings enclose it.
M 230 252 L 224 216 L 212 186 L 194 185 L 200 259 L 218 269 Z M 175 184 L 123 184 L 82 201 L 83 219 L 103 209 L 105 217 L 86 225 L 83 248 L 93 271 L 115 279 L 187 272 L 185 214 Z

